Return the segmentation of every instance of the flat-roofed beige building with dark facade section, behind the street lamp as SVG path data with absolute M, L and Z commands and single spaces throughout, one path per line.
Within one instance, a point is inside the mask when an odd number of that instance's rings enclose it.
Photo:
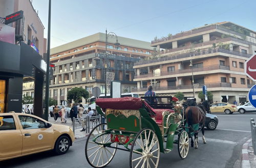
M 118 36 L 120 45 L 115 48 L 116 37 L 109 37 L 107 44 L 105 38 L 104 33 L 97 33 L 51 49 L 50 62 L 55 67 L 49 96 L 58 104 L 67 100 L 68 91 L 74 87 L 86 89 L 90 94 L 93 87 L 99 87 L 104 94 L 106 72 L 113 72 L 114 80 L 121 81 L 122 93 L 137 87 L 133 66 L 151 55 L 154 51 L 151 43 Z M 30 95 L 32 87 L 33 83 L 27 83 L 24 93 Z M 86 103 L 84 99 L 82 103 Z

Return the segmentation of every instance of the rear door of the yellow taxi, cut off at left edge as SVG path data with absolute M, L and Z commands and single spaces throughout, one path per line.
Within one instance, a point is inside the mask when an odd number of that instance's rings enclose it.
M 22 154 L 22 133 L 14 114 L 0 114 L 0 160 Z

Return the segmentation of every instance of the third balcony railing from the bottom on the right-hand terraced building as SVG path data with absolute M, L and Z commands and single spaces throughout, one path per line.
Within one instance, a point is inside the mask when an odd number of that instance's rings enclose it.
M 208 49 L 203 49 L 203 50 L 201 49 L 200 51 L 195 51 L 193 53 L 192 52 L 187 52 L 187 53 L 171 55 L 171 56 L 168 56 L 168 57 L 156 58 L 156 59 L 152 59 L 152 60 L 146 60 L 146 61 L 142 60 L 142 61 L 134 63 L 134 66 L 157 63 L 157 62 L 165 62 L 165 61 L 169 61 L 169 60 L 192 58 L 192 57 L 195 57 L 195 56 L 198 56 L 198 55 L 204 55 L 204 54 L 216 53 L 216 52 L 229 53 L 229 54 L 238 55 L 238 56 L 245 57 L 245 58 L 250 58 L 251 57 L 251 54 L 242 53 L 242 52 L 238 52 L 238 51 L 230 51 L 229 49 L 208 48 Z

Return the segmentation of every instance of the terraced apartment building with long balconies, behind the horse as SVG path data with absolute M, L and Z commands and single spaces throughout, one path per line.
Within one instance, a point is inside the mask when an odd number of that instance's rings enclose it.
M 137 89 L 132 92 L 144 94 L 152 85 L 158 95 L 182 92 L 185 97 L 195 94 L 198 98 L 206 85 L 214 102 L 248 101 L 254 82 L 244 73 L 244 64 L 256 54 L 255 35 L 252 30 L 225 21 L 155 38 L 151 43 L 157 47 L 154 57 L 134 64 Z

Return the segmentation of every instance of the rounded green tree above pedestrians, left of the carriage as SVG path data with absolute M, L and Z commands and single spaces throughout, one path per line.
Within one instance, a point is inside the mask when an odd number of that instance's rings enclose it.
M 82 97 L 84 99 L 88 99 L 89 95 L 90 94 L 87 90 L 75 87 L 68 92 L 67 98 L 68 100 L 73 100 L 75 103 L 78 103 Z

